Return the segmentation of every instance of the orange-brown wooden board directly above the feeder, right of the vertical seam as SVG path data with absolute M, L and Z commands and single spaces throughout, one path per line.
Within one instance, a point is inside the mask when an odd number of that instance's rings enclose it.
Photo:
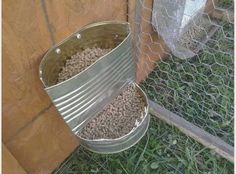
M 56 43 L 92 22 L 127 20 L 125 0 L 50 0 L 45 4 Z

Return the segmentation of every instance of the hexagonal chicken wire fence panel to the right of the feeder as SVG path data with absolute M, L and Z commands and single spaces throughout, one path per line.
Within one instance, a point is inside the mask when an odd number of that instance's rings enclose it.
M 141 87 L 149 99 L 230 145 L 233 10 L 233 0 L 138 0 L 129 13 L 138 71 L 147 75 Z

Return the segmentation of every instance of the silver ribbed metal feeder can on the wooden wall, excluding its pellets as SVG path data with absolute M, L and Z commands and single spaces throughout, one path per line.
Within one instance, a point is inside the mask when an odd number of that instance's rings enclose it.
M 112 48 L 112 51 L 100 57 L 84 71 L 57 84 L 58 73 L 66 59 L 93 46 Z M 135 80 L 129 23 L 99 22 L 83 27 L 46 53 L 40 63 L 39 74 L 58 112 L 77 135 L 106 104 Z M 132 135 L 130 134 L 130 139 Z M 82 139 L 81 144 L 92 151 L 112 152 L 105 146 L 97 150 L 99 148 L 95 146 L 99 146 L 98 143 L 91 142 Z M 127 148 L 124 145 L 123 149 L 126 149 L 125 147 Z M 119 151 L 121 150 L 122 148 L 119 148 Z

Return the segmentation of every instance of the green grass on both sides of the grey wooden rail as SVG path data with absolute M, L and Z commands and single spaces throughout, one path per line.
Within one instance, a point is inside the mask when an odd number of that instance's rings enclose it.
M 232 0 L 220 1 L 229 7 Z M 142 83 L 149 98 L 233 145 L 233 25 L 191 59 L 158 61 Z M 76 149 L 56 174 L 233 174 L 234 165 L 178 129 L 152 118 L 147 134 L 113 155 Z

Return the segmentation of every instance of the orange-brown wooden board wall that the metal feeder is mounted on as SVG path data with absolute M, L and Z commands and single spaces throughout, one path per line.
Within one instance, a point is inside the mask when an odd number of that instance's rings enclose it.
M 124 0 L 3 0 L 3 142 L 28 173 L 51 173 L 79 144 L 38 76 L 42 56 L 80 27 L 127 20 Z

